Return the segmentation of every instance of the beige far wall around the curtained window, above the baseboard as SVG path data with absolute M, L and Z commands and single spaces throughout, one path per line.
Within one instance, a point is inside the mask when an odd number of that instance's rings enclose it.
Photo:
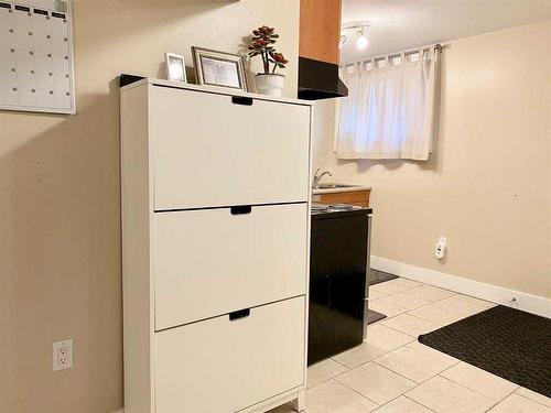
M 551 297 L 550 44 L 551 22 L 452 42 L 429 163 L 337 161 L 318 105 L 314 166 L 372 185 L 375 256 Z

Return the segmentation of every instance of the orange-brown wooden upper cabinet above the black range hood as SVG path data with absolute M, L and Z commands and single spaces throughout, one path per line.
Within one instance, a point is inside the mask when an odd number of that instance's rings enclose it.
M 301 0 L 299 55 L 338 65 L 341 0 Z

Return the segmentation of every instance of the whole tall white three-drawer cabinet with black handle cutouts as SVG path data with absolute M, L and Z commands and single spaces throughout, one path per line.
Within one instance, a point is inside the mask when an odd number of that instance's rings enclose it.
M 312 107 L 121 89 L 125 413 L 304 409 Z

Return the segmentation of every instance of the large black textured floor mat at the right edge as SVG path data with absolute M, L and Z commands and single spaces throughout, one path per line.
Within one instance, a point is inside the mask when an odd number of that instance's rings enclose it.
M 551 319 L 498 305 L 419 341 L 551 398 Z

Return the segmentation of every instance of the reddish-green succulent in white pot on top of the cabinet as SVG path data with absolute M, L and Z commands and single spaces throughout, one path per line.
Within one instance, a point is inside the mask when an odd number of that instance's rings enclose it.
M 285 68 L 288 59 L 281 53 L 277 53 L 273 44 L 279 39 L 273 28 L 263 25 L 252 31 L 252 43 L 249 46 L 249 56 L 260 55 L 262 57 L 263 73 L 255 76 L 257 91 L 262 95 L 281 96 L 284 76 L 276 73 L 276 69 Z M 270 65 L 273 64 L 272 67 Z

